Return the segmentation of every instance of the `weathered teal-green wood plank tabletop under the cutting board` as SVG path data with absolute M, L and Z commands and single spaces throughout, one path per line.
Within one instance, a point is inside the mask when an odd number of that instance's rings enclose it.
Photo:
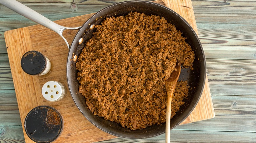
M 97 12 L 122 0 L 18 0 L 52 21 Z M 256 142 L 256 1 L 192 1 L 215 118 L 179 125 L 172 142 Z M 4 32 L 36 23 L 0 5 L 0 142 L 25 142 Z M 115 138 L 102 142 L 164 142 Z

